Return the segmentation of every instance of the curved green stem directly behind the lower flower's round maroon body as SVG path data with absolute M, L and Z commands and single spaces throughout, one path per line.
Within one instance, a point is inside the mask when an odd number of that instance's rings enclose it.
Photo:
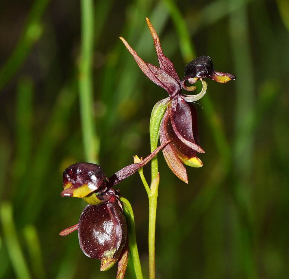
M 131 252 L 132 262 L 134 264 L 134 272 L 136 279 L 142 279 L 142 267 L 140 265 L 140 257 L 138 255 L 138 246 L 136 244 L 136 228 L 134 224 L 134 212 L 132 211 L 131 204 L 123 197 L 120 198 L 123 205 L 123 213 L 127 220 L 127 231 L 129 236 L 129 249 Z

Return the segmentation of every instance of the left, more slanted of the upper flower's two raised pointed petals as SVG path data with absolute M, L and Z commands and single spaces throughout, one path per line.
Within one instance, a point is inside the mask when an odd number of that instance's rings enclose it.
M 171 76 L 169 76 L 162 69 L 160 69 L 154 65 L 145 63 L 138 56 L 138 54 L 131 48 L 131 46 L 127 43 L 127 41 L 125 41 L 125 39 L 123 39 L 122 37 L 120 37 L 120 39 L 123 41 L 124 45 L 129 50 L 131 55 L 134 56 L 134 59 L 135 59 L 136 63 L 138 64 L 138 66 L 140 67 L 140 69 L 142 70 L 142 72 L 151 81 L 153 81 L 158 86 L 164 88 L 164 90 L 166 90 L 166 92 L 168 92 L 168 94 L 170 96 L 174 96 L 175 94 L 181 92 L 181 86 L 175 79 L 173 79 Z

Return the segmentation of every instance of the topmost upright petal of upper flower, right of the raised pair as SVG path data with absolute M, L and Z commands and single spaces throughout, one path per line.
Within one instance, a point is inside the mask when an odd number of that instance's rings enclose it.
M 171 62 L 170 59 L 168 59 L 168 57 L 166 57 L 163 54 L 163 51 L 160 45 L 160 39 L 158 37 L 157 32 L 155 32 L 155 28 L 153 28 L 153 25 L 151 25 L 151 22 L 149 21 L 147 17 L 146 17 L 146 20 L 147 20 L 147 25 L 149 26 L 149 30 L 151 31 L 151 36 L 153 37 L 153 41 L 155 43 L 155 51 L 157 52 L 161 69 L 164 70 L 168 75 L 173 77 L 178 83 L 181 83 L 173 63 Z

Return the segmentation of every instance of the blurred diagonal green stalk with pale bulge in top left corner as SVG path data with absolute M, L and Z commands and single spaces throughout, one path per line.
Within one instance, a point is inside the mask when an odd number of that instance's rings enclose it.
M 43 32 L 40 19 L 50 0 L 36 0 L 30 9 L 26 26 L 9 59 L 0 70 L 0 91 L 23 64 L 34 43 Z

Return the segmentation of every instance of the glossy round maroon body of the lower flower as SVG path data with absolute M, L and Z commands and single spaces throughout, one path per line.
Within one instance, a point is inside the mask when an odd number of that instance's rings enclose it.
M 126 238 L 126 220 L 116 198 L 102 205 L 88 205 L 82 211 L 78 239 L 86 256 L 115 263 Z

